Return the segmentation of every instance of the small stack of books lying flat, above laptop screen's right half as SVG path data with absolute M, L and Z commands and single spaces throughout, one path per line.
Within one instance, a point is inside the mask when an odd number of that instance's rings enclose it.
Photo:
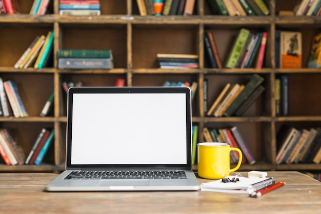
M 195 54 L 157 54 L 161 69 L 198 68 L 198 55 Z

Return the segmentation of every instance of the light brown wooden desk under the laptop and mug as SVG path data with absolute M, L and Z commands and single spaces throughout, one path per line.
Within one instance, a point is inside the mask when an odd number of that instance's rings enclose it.
M 247 173 L 242 173 L 246 176 Z M 269 172 L 286 186 L 260 198 L 206 191 L 46 192 L 56 174 L 0 174 L 0 213 L 320 213 L 321 183 Z M 199 182 L 210 180 L 199 179 Z

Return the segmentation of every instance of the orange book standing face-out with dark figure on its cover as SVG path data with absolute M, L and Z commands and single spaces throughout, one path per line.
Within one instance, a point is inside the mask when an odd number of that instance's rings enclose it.
M 280 68 L 302 68 L 302 33 L 280 32 Z

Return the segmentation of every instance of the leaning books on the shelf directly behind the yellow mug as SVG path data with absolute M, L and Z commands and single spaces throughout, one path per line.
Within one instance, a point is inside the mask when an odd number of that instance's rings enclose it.
M 239 148 L 244 156 L 242 163 L 248 162 L 249 164 L 254 164 L 256 162 L 237 126 L 224 129 L 204 127 L 202 134 L 206 142 L 227 142 L 231 147 Z M 236 153 L 231 153 L 230 158 L 231 163 L 237 163 L 239 157 Z

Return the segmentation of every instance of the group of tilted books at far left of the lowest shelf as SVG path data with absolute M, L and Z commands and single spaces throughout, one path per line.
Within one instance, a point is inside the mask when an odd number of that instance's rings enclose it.
M 26 158 L 21 144 L 7 129 L 0 130 L 0 155 L 7 165 L 24 164 Z

